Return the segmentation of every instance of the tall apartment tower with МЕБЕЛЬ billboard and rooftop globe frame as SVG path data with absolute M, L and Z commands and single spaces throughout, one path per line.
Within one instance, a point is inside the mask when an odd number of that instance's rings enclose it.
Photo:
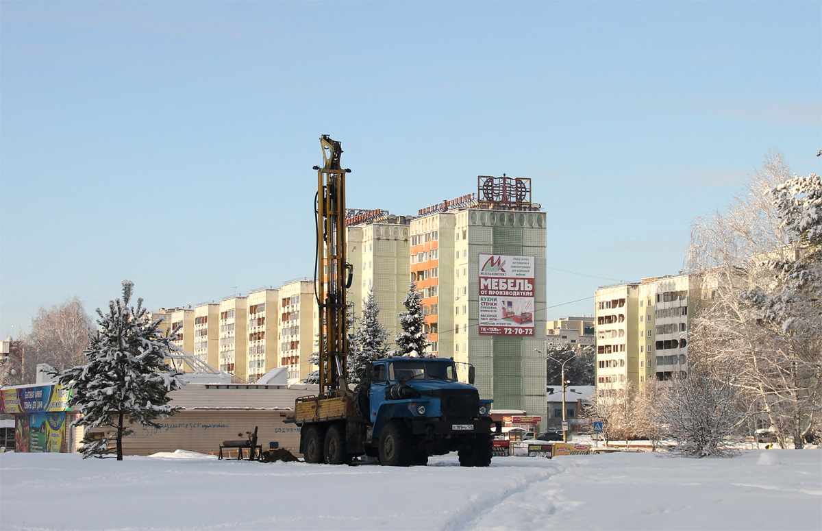
M 476 196 L 419 215 L 411 270 L 423 278 L 436 354 L 476 367 L 495 409 L 525 410 L 544 425 L 546 219 L 530 202 L 530 180 L 481 177 Z

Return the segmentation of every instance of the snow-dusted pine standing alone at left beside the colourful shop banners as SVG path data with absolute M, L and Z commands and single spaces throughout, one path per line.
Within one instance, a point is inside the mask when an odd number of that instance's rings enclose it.
M 72 388 L 68 404 L 82 413 L 73 425 L 111 427 L 115 430 L 117 460 L 122 460 L 122 437 L 133 431 L 127 422 L 159 427 L 155 418 L 171 415 L 169 391 L 184 382 L 182 372 L 164 362 L 174 335 L 164 337 L 160 320 L 150 321 L 137 299 L 129 307 L 134 284 L 122 282 L 122 300 L 109 302 L 105 315 L 97 309 L 99 330 L 85 349 L 88 363 L 59 373 L 58 381 Z M 85 441 L 83 458 L 109 453 L 104 441 Z

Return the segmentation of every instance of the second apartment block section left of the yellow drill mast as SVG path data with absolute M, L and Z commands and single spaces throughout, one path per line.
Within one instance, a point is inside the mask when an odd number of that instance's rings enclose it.
M 254 289 L 248 293 L 247 361 L 249 382 L 279 367 L 279 288 Z

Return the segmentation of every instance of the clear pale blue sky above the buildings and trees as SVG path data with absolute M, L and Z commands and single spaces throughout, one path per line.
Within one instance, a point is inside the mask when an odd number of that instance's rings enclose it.
M 2 1 L 0 335 L 311 277 L 324 134 L 349 208 L 531 178 L 545 317 L 593 314 L 820 126 L 822 2 Z

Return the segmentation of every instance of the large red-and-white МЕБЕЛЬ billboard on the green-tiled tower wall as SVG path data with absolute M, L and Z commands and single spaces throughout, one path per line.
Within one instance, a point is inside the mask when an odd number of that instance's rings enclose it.
M 533 335 L 533 256 L 479 255 L 479 334 Z

